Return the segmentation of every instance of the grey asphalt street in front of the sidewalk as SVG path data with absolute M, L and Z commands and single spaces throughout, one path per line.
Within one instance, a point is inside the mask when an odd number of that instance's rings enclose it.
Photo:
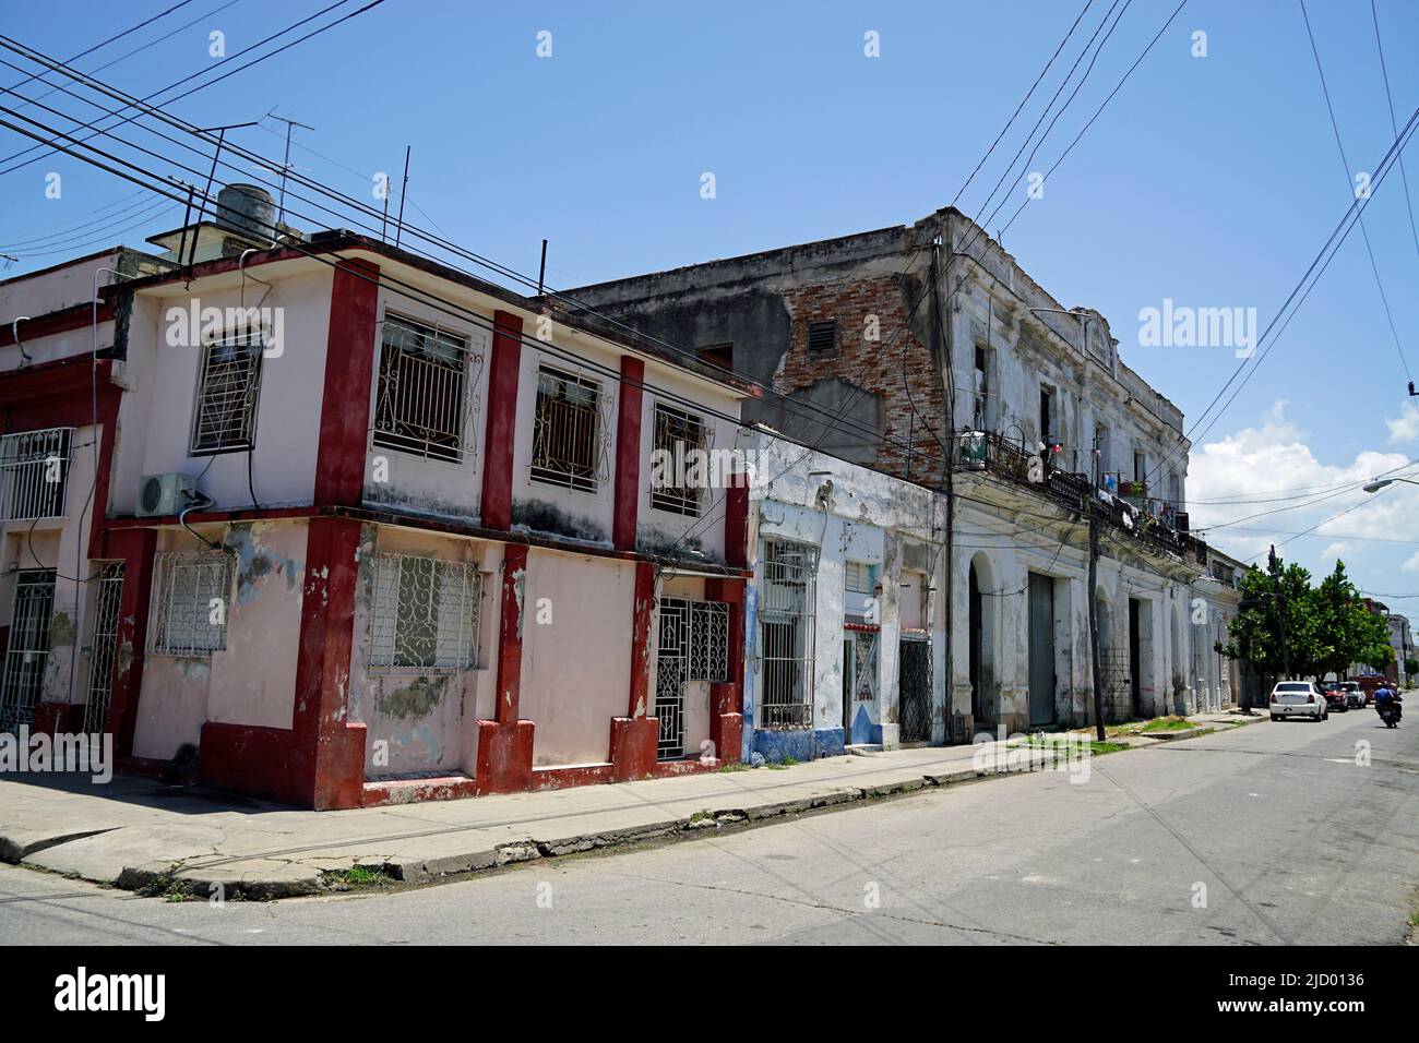
M 1393 944 L 1416 796 L 1419 719 L 1364 710 L 396 893 L 169 903 L 6 866 L 0 944 Z

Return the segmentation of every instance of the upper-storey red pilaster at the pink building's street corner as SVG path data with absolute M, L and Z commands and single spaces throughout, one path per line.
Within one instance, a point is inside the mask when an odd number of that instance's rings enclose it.
M 331 287 L 325 342 L 325 393 L 315 464 L 318 507 L 359 507 L 365 490 L 377 314 L 379 265 L 358 258 L 341 261 Z

